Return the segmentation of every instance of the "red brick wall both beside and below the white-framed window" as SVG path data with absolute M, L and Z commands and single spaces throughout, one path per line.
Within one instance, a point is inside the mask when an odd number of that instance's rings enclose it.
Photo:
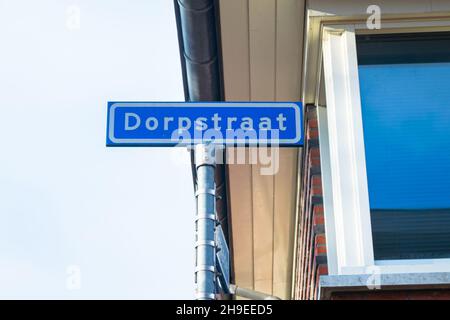
M 319 299 L 319 278 L 328 274 L 327 247 L 322 199 L 317 108 L 306 106 L 305 145 L 302 157 L 298 232 L 295 240 L 296 264 L 293 298 Z M 450 286 L 450 285 L 449 285 Z M 449 300 L 450 289 L 404 289 L 335 291 L 331 300 Z

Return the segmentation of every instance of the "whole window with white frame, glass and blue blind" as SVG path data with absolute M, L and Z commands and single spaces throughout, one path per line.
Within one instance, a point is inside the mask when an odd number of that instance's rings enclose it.
M 330 274 L 450 270 L 449 27 L 322 28 Z

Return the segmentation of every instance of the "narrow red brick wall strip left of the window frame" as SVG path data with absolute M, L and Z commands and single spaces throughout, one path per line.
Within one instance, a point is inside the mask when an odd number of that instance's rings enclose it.
M 317 299 L 320 275 L 327 274 L 317 108 L 306 106 L 294 299 Z

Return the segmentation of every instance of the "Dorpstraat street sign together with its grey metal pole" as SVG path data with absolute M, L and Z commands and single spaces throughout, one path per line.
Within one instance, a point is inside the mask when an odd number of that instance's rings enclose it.
M 230 284 L 229 249 L 216 217 L 216 147 L 302 146 L 302 115 L 300 102 L 108 102 L 107 146 L 195 146 L 196 299 L 249 296 Z

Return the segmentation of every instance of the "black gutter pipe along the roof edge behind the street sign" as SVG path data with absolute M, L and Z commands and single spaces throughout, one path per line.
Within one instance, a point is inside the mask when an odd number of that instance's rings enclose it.
M 218 3 L 174 0 L 186 101 L 222 101 Z M 194 188 L 196 171 L 191 152 Z M 216 210 L 229 243 L 225 165 L 216 169 Z

